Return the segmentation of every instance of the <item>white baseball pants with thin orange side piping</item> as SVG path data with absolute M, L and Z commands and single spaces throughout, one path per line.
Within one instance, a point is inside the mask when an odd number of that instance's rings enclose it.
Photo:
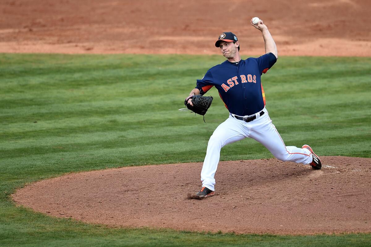
M 207 144 L 206 157 L 201 171 L 203 187 L 214 191 L 214 175 L 219 163 L 220 149 L 227 144 L 240 141 L 246 137 L 253 138 L 263 144 L 274 157 L 281 161 L 292 161 L 302 164 L 312 162 L 312 154 L 308 149 L 285 146 L 276 127 L 269 118 L 267 110 L 264 108 L 263 111 L 263 116 L 248 123 L 238 120 L 229 114 L 229 118 L 215 129 Z

